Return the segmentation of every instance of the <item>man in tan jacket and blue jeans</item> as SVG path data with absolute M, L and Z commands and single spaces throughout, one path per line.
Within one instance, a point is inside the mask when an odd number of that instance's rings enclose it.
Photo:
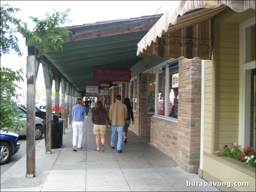
M 127 118 L 127 107 L 121 102 L 121 95 L 116 96 L 116 102 L 110 106 L 109 119 L 112 124 L 110 147 L 115 149 L 116 133 L 118 132 L 117 151 L 122 152 L 123 129 Z

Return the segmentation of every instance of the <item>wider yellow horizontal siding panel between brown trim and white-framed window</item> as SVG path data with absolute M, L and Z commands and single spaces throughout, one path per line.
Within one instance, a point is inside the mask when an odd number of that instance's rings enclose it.
M 220 24 L 219 142 L 238 141 L 239 109 L 239 25 Z M 218 93 L 216 93 L 218 94 Z

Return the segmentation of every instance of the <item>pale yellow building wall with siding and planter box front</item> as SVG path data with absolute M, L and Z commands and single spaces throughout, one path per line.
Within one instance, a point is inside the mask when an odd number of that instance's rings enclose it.
M 217 27 L 216 27 L 217 26 Z M 255 168 L 214 151 L 238 142 L 239 119 L 239 24 L 215 24 L 213 61 L 205 63 L 203 170 L 209 182 L 225 182 L 222 191 L 255 191 Z M 219 50 L 218 50 L 219 47 Z M 249 186 L 235 186 L 245 182 Z

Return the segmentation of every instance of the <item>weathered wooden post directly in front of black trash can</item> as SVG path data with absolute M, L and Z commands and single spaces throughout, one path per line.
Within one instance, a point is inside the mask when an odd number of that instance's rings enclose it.
M 44 82 L 46 88 L 46 129 L 45 129 L 45 145 L 46 154 L 51 154 L 51 88 L 53 81 L 53 71 L 47 64 L 42 64 Z

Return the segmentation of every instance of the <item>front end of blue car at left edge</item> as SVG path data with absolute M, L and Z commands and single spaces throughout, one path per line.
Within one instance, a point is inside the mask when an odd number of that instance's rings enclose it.
M 19 135 L 1 130 L 1 165 L 6 164 L 20 148 Z

